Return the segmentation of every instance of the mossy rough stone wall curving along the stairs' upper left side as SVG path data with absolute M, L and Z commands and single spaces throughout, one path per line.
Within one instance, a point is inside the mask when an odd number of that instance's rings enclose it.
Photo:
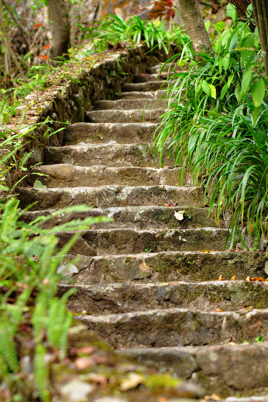
M 147 47 L 141 44 L 122 51 L 105 52 L 96 61 L 69 64 L 68 78 L 59 70 L 58 76 L 50 79 L 49 88 L 26 96 L 17 109 L 17 124 L 14 122 L 13 125 L 15 128 L 22 120 L 23 132 L 37 124 L 30 133 L 33 139 L 29 149 L 34 151 L 30 164 L 43 162 L 44 146 L 63 144 L 64 130 L 55 131 L 64 127 L 64 122 L 83 121 L 85 112 L 92 110 L 96 100 L 114 99 L 123 90 L 124 83 L 132 81 L 133 74 L 145 73 L 150 66 L 167 59 L 167 55 L 158 48 L 147 52 Z M 53 123 L 40 125 L 47 118 Z M 47 129 L 51 135 L 44 139 Z

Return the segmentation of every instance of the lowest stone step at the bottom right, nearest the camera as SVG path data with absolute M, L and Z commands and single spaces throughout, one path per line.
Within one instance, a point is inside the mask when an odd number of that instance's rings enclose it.
M 127 356 L 161 372 L 191 378 L 207 395 L 264 394 L 264 387 L 268 387 L 268 342 L 127 349 L 118 353 L 119 357 Z M 228 398 L 226 402 L 266 402 L 266 398 Z

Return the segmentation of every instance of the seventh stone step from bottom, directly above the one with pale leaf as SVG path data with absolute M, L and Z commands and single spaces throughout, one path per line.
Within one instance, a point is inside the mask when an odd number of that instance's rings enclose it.
M 33 210 L 64 208 L 68 205 L 86 204 L 98 208 L 137 207 L 164 205 L 172 200 L 179 205 L 203 207 L 204 189 L 202 187 L 174 186 L 100 186 L 62 189 L 18 188 L 20 206 L 38 202 Z

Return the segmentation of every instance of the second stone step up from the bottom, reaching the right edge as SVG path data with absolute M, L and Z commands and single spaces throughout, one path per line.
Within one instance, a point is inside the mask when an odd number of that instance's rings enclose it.
M 155 309 L 104 316 L 77 317 L 117 349 L 268 340 L 268 309 L 206 312 Z

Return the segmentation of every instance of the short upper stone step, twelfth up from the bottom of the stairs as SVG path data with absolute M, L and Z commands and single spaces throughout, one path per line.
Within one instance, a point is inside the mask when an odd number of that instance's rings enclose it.
M 165 107 L 165 101 L 164 100 L 159 100 L 156 103 L 157 100 L 154 98 L 152 99 L 146 99 L 146 98 L 141 98 L 141 99 L 118 99 L 118 100 L 98 100 L 98 102 L 94 103 L 94 108 L 96 110 L 133 110 L 133 109 L 144 109 L 146 108 L 151 109 L 151 108 L 157 108 L 157 109 L 164 109 Z M 168 106 L 168 103 L 167 103 Z

